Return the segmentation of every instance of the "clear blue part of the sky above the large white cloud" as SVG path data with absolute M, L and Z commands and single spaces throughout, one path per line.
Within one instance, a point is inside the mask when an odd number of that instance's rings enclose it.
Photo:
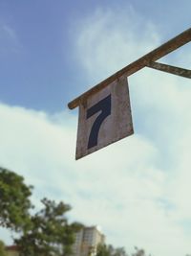
M 63 109 L 88 82 L 74 56 L 76 30 L 97 9 L 107 12 L 130 7 L 142 27 L 146 20 L 155 21 L 162 41 L 189 27 L 189 0 L 1 0 L 1 101 L 51 112 Z

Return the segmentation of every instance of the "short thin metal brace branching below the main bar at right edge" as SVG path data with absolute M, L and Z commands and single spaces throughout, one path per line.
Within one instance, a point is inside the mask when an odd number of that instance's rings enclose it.
M 153 61 L 149 62 L 147 64 L 147 67 L 151 67 L 151 68 L 154 68 L 163 72 L 167 72 L 173 75 L 177 75 L 183 78 L 191 79 L 191 70 L 189 69 L 184 69 L 184 68 L 166 65 L 163 63 L 153 62 Z

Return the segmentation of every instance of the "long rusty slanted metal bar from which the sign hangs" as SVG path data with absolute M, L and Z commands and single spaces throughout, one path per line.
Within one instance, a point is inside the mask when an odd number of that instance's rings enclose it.
M 150 53 L 146 54 L 145 56 L 138 58 L 138 60 L 132 62 L 131 64 L 127 65 L 126 67 L 119 70 L 117 73 L 112 75 L 111 77 L 107 78 L 104 81 L 99 82 L 88 90 L 87 92 L 83 93 L 81 96 L 74 99 L 74 101 L 70 102 L 68 104 L 70 109 L 73 109 L 80 103 L 83 103 L 86 101 L 86 99 L 96 93 L 97 91 L 105 88 L 108 84 L 110 84 L 112 81 L 117 80 L 117 78 L 120 78 L 121 76 L 130 76 L 140 70 L 141 68 L 145 67 L 150 61 L 155 61 L 159 58 L 164 57 L 165 55 L 175 51 L 180 46 L 188 43 L 191 40 L 191 28 L 184 31 L 180 35 L 177 35 L 173 39 L 167 41 L 166 43 L 160 45 L 155 50 L 151 51 Z

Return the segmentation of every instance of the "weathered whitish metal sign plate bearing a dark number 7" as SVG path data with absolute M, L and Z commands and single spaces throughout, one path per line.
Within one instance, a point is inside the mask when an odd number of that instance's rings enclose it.
M 128 82 L 120 77 L 79 104 L 75 158 L 133 133 Z

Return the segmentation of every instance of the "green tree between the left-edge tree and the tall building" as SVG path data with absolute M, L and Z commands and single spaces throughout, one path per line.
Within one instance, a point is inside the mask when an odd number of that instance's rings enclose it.
M 32 217 L 32 228 L 15 243 L 21 256 L 64 256 L 70 255 L 74 244 L 74 233 L 82 225 L 69 224 L 65 214 L 71 206 L 63 202 L 56 204 L 44 198 L 44 208 Z

